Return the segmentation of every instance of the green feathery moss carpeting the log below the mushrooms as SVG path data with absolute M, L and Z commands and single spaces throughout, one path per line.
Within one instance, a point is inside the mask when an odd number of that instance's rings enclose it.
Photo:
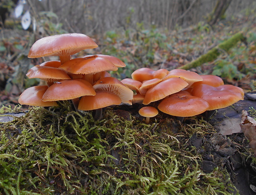
M 200 155 L 187 143 L 192 134 L 214 131 L 204 121 L 145 125 L 130 119 L 114 110 L 94 121 L 88 112 L 30 108 L 2 123 L 0 193 L 233 194 L 225 170 L 202 172 Z

